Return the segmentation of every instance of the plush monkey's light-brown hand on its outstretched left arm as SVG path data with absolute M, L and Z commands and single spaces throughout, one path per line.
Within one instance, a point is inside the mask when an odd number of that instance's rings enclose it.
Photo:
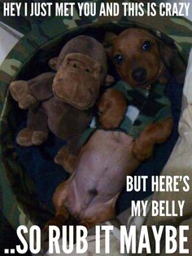
M 18 102 L 20 108 L 27 109 L 37 104 L 37 99 L 28 89 L 27 82 L 22 80 L 11 82 L 9 89 L 11 96 Z

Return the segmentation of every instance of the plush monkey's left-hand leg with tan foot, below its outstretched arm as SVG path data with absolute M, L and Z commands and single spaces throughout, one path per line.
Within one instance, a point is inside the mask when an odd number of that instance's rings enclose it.
M 20 130 L 16 142 L 23 147 L 38 146 L 47 139 L 48 132 L 44 109 L 41 106 L 29 109 L 27 127 Z

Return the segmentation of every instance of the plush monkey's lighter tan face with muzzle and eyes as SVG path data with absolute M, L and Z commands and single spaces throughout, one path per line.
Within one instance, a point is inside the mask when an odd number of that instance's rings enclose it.
M 54 94 L 75 108 L 88 109 L 95 104 L 102 83 L 101 65 L 88 55 L 66 55 L 53 82 Z

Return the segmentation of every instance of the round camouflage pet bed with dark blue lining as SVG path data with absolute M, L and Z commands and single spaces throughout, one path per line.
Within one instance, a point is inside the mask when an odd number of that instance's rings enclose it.
M 61 167 L 55 166 L 53 156 L 64 142 L 54 135 L 39 148 L 20 148 L 15 144 L 15 135 L 26 121 L 21 111 L 7 90 L 15 79 L 29 79 L 39 73 L 49 71 L 47 61 L 57 55 L 65 42 L 79 34 L 87 34 L 103 41 L 104 33 L 120 33 L 129 27 L 148 29 L 169 45 L 175 45 L 181 61 L 187 63 L 192 38 L 192 25 L 181 18 L 147 16 L 119 17 L 118 20 L 98 17 L 78 17 L 64 19 L 55 17 L 33 24 L 30 31 L 23 31 L 24 38 L 18 42 L 7 56 L 0 68 L 0 195 L 3 214 L 13 227 L 20 224 L 28 227 L 33 223 L 44 225 L 52 214 L 51 196 L 58 183 L 67 179 L 68 174 Z M 151 161 L 143 164 L 137 174 L 159 174 L 177 141 L 177 123 L 181 110 L 182 85 L 171 77 L 168 95 L 172 101 L 175 130 L 168 143 L 156 148 Z M 163 149 L 163 150 L 162 150 Z M 160 161 L 159 161 L 160 159 Z M 149 173 L 151 170 L 151 173 Z M 54 180 L 54 182 L 53 182 Z M 146 194 L 129 194 L 122 192 L 117 204 L 118 213 L 129 207 L 129 201 L 140 199 Z

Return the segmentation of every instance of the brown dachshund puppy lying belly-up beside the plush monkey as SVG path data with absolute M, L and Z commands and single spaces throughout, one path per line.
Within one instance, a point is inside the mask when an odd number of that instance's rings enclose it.
M 173 55 L 158 38 L 142 29 L 126 29 L 110 38 L 110 42 L 109 52 L 116 70 L 132 88 L 150 90 L 154 82 L 164 82 L 164 70 Z M 116 199 L 126 175 L 133 174 L 142 161 L 151 157 L 155 143 L 168 139 L 172 132 L 171 117 L 149 124 L 137 139 L 120 130 L 107 130 L 120 125 L 127 104 L 123 93 L 117 96 L 116 90 L 106 90 L 103 94 L 98 110 L 105 130 L 94 131 L 81 148 L 72 176 L 56 189 L 55 218 L 46 228 L 50 224 L 61 226 L 70 216 L 85 227 L 115 218 Z

